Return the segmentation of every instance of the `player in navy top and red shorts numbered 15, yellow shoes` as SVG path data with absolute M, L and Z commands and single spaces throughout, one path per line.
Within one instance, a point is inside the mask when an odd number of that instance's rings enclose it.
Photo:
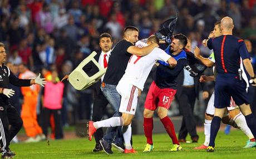
M 157 114 L 163 123 L 166 132 L 173 141 L 173 147 L 170 151 L 180 151 L 182 147 L 175 135 L 173 122 L 168 117 L 168 109 L 176 94 L 178 85 L 177 76 L 183 70 L 187 63 L 186 52 L 184 48 L 188 43 L 188 39 L 183 34 L 174 35 L 173 42 L 169 45 L 165 52 L 173 57 L 177 64 L 175 68 L 170 68 L 163 61 L 158 61 L 160 64 L 156 69 L 156 77 L 152 81 L 149 92 L 145 100 L 144 106 L 144 133 L 147 138 L 147 145 L 143 152 L 150 152 L 154 149 L 152 141 L 153 130 L 153 114 L 157 109 Z

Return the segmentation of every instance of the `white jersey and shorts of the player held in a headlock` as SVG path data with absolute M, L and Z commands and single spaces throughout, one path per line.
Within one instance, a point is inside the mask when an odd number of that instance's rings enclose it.
M 155 36 L 151 36 L 148 40 L 152 42 L 151 39 L 156 38 Z M 145 47 L 146 43 L 141 41 L 136 42 L 137 47 Z M 136 106 L 137 106 L 137 98 L 131 99 L 133 96 L 132 88 L 137 88 L 137 90 L 142 91 L 144 88 L 145 81 L 147 76 L 154 66 L 156 60 L 168 61 L 171 58 L 170 55 L 166 54 L 164 50 L 159 48 L 155 48 L 152 52 L 144 57 L 137 57 L 132 55 L 125 70 L 124 76 L 122 76 L 119 84 L 116 86 L 116 90 L 122 96 L 121 104 L 119 111 L 125 112 L 127 114 L 135 114 Z M 176 63 L 175 63 L 176 65 Z M 174 66 L 174 65 L 173 65 Z M 128 91 L 131 90 L 131 91 Z M 134 90 L 134 93 L 137 91 Z M 123 98 L 124 97 L 124 98 Z M 131 105 L 132 103 L 132 105 Z

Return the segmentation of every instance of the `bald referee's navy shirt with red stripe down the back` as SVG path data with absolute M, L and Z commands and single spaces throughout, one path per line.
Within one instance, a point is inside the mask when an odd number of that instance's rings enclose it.
M 218 73 L 238 74 L 240 57 L 250 58 L 244 40 L 235 38 L 233 35 L 221 35 L 209 39 L 207 46 L 213 49 L 216 70 Z

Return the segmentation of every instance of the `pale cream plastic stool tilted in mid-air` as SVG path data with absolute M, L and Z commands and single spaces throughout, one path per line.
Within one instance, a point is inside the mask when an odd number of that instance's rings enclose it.
M 97 53 L 92 52 L 86 59 L 84 59 L 75 70 L 68 76 L 68 81 L 70 84 L 77 90 L 83 90 L 88 88 L 89 86 L 95 84 L 102 75 L 106 73 L 107 68 L 102 68 L 99 63 L 93 58 Z M 88 76 L 85 71 L 83 71 L 83 66 L 92 61 L 98 68 L 99 71 L 92 75 Z

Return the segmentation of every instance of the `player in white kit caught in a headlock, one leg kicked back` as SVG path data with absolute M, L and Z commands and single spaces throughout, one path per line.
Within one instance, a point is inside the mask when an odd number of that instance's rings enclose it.
M 159 39 L 155 35 L 151 35 L 147 39 L 147 44 L 142 42 L 137 42 L 138 47 L 144 47 L 150 43 L 159 43 Z M 119 111 L 122 112 L 121 117 L 111 117 L 107 120 L 102 120 L 98 122 L 89 121 L 88 125 L 88 135 L 92 136 L 93 133 L 100 127 L 115 127 L 115 126 L 127 126 L 127 134 L 131 134 L 131 121 L 134 118 L 136 107 L 137 107 L 137 97 L 144 88 L 147 76 L 154 66 L 157 60 L 165 61 L 174 68 L 177 61 L 170 55 L 166 54 L 164 50 L 155 48 L 152 52 L 144 57 L 137 57 L 132 55 L 127 64 L 124 76 L 122 76 L 119 84 L 116 86 L 116 90 L 121 95 L 121 103 Z M 126 136 L 126 132 L 124 136 Z M 128 135 L 127 135 L 128 136 Z M 126 137 L 125 137 L 126 138 Z M 126 138 L 127 139 L 127 138 Z M 130 140 L 126 140 L 125 143 L 127 147 L 130 147 Z M 132 148 L 133 150 L 133 148 Z M 132 153 L 132 152 L 131 152 Z

